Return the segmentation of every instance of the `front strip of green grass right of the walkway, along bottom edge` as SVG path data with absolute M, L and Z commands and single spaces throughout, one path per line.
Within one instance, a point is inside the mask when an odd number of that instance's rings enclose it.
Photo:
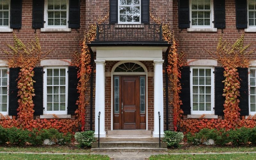
M 211 160 L 211 159 L 246 159 L 252 160 L 256 159 L 256 153 L 242 153 L 242 154 L 203 154 L 203 155 L 156 155 L 150 156 L 149 160 L 162 160 L 162 159 L 200 159 L 200 160 Z

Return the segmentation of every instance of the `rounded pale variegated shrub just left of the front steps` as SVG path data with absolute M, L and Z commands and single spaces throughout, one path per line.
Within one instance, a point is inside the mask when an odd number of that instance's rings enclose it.
M 95 141 L 94 131 L 76 132 L 75 139 L 78 143 L 78 147 L 90 147 Z

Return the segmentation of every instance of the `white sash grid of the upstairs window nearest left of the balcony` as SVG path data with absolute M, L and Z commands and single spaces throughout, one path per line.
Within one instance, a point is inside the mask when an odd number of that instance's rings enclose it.
M 53 3 L 55 4 L 55 3 Z M 46 28 L 68 28 L 68 0 L 66 2 L 67 9 L 48 9 L 48 1 L 45 1 L 45 27 Z M 48 18 L 48 12 L 54 12 L 53 18 Z M 55 12 L 60 12 L 60 18 L 55 18 Z M 61 18 L 61 12 L 66 12 L 66 18 Z M 56 19 L 60 20 L 60 25 L 49 25 L 49 19 L 53 19 L 53 24 L 55 23 Z M 66 25 L 61 25 L 61 19 L 66 19 Z

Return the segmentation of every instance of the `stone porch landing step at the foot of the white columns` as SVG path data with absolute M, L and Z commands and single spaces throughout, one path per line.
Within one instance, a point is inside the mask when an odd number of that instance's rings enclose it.
M 98 140 L 98 138 L 95 138 Z M 161 138 L 164 140 L 164 138 Z M 132 141 L 132 142 L 158 142 L 159 138 L 152 136 L 135 136 L 135 135 L 116 135 L 100 138 L 100 142 L 120 142 L 120 141 Z

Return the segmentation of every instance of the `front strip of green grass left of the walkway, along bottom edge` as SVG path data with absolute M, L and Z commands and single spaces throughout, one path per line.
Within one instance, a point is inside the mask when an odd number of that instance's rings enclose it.
M 109 160 L 108 156 L 102 156 L 102 155 L 51 155 L 51 154 L 9 154 L 9 153 L 0 153 L 0 159 L 1 160 L 13 160 L 13 159 L 19 159 L 19 160 L 27 160 L 27 159 L 51 159 L 51 160 L 57 160 L 57 159 L 100 159 L 100 160 Z

